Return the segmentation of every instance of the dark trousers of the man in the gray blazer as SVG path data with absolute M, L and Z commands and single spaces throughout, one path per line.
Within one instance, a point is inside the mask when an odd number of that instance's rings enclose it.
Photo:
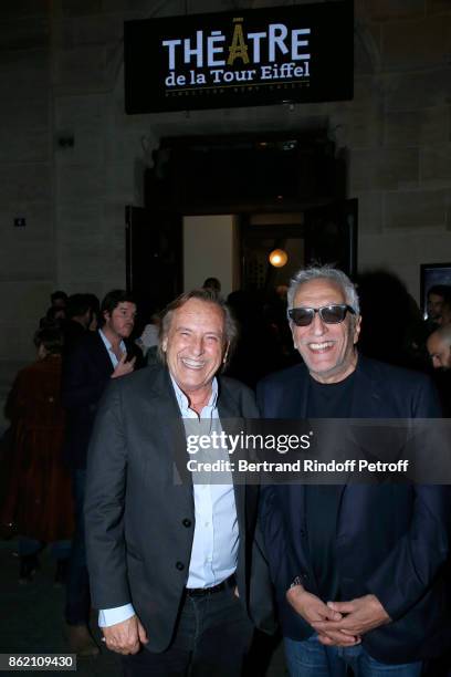
M 123 656 L 126 677 L 240 677 L 252 625 L 233 589 L 185 596 L 169 648 Z M 151 627 L 147 628 L 151 636 Z

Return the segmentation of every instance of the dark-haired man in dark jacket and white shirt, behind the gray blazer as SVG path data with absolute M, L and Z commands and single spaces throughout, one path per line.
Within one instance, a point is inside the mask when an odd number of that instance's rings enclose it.
M 136 304 L 123 290 L 113 290 L 102 301 L 103 324 L 86 332 L 64 362 L 63 404 L 67 427 L 64 458 L 71 469 L 75 502 L 75 534 L 72 543 L 66 591 L 66 634 L 73 653 L 98 653 L 90 629 L 90 581 L 86 569 L 83 501 L 86 454 L 103 392 L 111 379 L 122 378 L 143 366 L 143 354 L 130 340 Z

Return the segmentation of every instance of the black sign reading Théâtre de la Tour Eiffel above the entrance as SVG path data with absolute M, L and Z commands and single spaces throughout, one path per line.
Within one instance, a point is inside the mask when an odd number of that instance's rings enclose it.
M 353 97 L 349 0 L 127 21 L 127 113 Z

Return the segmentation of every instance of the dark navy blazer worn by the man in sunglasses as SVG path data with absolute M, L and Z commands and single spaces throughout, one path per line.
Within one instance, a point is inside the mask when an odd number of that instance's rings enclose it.
M 308 372 L 298 365 L 265 378 L 258 402 L 265 418 L 306 418 Z M 350 417 L 434 418 L 441 410 L 430 381 L 407 369 L 359 357 Z M 308 555 L 302 485 L 262 492 L 264 543 L 276 586 L 283 633 L 313 633 L 285 600 L 295 576 L 318 594 Z M 449 487 L 347 485 L 336 524 L 335 561 L 342 600 L 375 594 L 392 623 L 366 635 L 368 653 L 382 663 L 439 655 L 450 638 L 444 567 L 449 554 Z

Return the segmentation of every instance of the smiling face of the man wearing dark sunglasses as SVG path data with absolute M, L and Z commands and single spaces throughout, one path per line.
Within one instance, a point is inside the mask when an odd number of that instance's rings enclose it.
M 322 308 L 346 303 L 338 284 L 326 278 L 304 282 L 297 289 L 293 308 Z M 308 326 L 291 323 L 295 348 L 311 376 L 321 383 L 338 383 L 356 368 L 355 344 L 360 333 L 360 316 L 346 314 L 339 324 L 326 324 L 318 313 Z

